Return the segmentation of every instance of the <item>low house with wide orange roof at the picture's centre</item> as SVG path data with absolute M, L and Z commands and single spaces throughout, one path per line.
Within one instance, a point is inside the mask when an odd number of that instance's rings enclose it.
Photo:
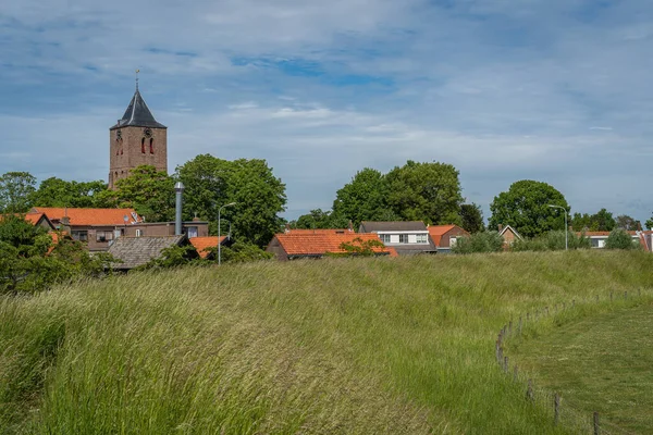
M 377 240 L 375 234 L 276 234 L 268 245 L 266 251 L 274 253 L 278 260 L 295 260 L 301 258 L 322 258 L 326 253 L 346 253 L 342 244 L 360 245 L 368 240 Z M 379 246 L 373 247 L 375 256 L 393 256 L 393 250 Z M 396 252 L 394 252 L 396 253 Z

